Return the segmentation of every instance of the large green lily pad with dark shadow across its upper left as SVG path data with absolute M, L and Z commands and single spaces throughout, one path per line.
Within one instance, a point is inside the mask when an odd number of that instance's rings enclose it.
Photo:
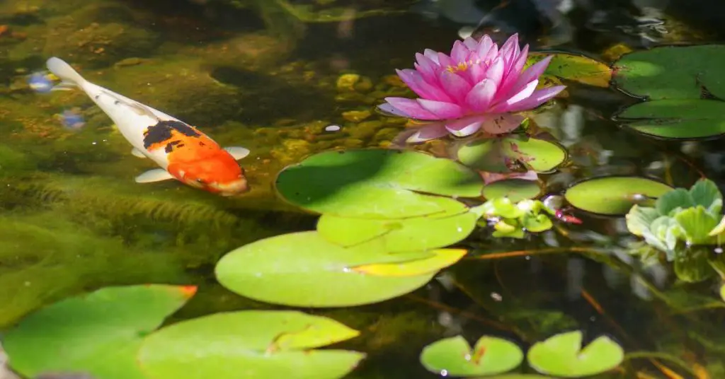
M 276 188 L 312 212 L 397 218 L 459 212 L 458 201 L 421 193 L 478 197 L 483 181 L 463 164 L 419 151 L 356 149 L 325 151 L 286 167 Z

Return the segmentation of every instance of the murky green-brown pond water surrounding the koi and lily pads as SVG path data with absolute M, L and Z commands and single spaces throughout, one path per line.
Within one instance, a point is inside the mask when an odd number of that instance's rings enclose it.
M 215 279 L 216 263 L 233 249 L 314 230 L 318 215 L 275 192 L 278 172 L 328 149 L 389 147 L 406 120 L 375 107 L 386 96 L 411 97 L 394 70 L 412 68 L 423 49 L 450 51 L 481 17 L 476 33 L 500 43 L 518 32 L 532 50 L 607 64 L 632 50 L 722 38 L 725 5 L 714 0 L 573 1 L 556 10 L 558 2 L 1 1 L 0 326 L 98 288 L 168 283 L 198 292 L 167 323 L 299 309 L 360 330 L 336 344 L 368 354 L 347 378 L 434 378 L 421 349 L 457 334 L 525 347 L 568 330 L 587 341 L 605 334 L 635 353 L 597 378 L 725 378 L 719 280 L 684 283 L 668 262 L 642 265 L 624 247 L 633 238 L 624 217 L 573 211 L 581 224 L 558 222 L 523 239 L 478 228 L 455 244 L 468 255 L 436 280 L 358 307 L 287 308 Z M 86 94 L 38 91 L 42 75 L 29 81 L 52 56 L 221 146 L 249 149 L 240 164 L 251 190 L 223 198 L 175 180 L 134 183 L 154 164 L 130 154 Z M 566 164 L 539 175 L 545 193 L 600 175 L 685 188 L 704 175 L 722 188 L 720 141 L 634 133 L 611 117 L 638 99 L 566 84 L 567 96 L 534 117 L 568 150 Z M 450 143 L 410 149 L 442 155 Z

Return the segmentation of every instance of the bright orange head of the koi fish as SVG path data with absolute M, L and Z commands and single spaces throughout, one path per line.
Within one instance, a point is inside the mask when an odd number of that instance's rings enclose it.
M 221 196 L 236 196 L 249 191 L 244 169 L 225 154 L 194 162 L 170 164 L 168 170 L 188 186 Z

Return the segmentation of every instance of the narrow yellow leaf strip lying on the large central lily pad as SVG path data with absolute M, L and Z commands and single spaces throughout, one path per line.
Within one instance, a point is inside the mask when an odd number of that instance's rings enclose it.
M 415 276 L 437 272 L 458 262 L 468 250 L 436 249 L 431 251 L 433 257 L 402 263 L 373 263 L 352 267 L 355 272 L 378 276 Z

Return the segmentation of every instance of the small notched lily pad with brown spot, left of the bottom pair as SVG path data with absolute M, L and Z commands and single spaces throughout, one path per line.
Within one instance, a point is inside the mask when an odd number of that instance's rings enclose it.
M 421 352 L 426 370 L 444 376 L 494 375 L 513 370 L 523 361 L 523 352 L 510 341 L 483 336 L 471 349 L 462 336 L 431 343 Z

